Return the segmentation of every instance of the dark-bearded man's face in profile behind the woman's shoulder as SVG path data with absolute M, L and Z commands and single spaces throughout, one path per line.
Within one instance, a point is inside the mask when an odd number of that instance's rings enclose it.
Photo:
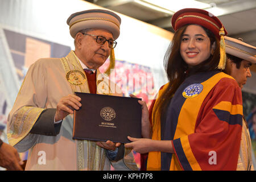
M 240 68 L 237 68 L 236 63 L 233 63 L 232 60 L 228 60 L 227 64 L 228 74 L 236 79 L 238 85 L 242 89 L 243 85 L 246 84 L 247 78 L 251 77 L 251 63 L 249 61 L 242 60 Z

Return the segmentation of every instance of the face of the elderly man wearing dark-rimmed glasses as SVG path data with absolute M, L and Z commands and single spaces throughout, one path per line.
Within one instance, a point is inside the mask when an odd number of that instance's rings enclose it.
M 103 36 L 107 40 L 113 39 L 113 35 L 103 29 L 93 29 L 86 32 L 86 34 Z M 110 55 L 110 48 L 108 41 L 103 45 L 96 42 L 97 37 L 78 33 L 77 51 L 79 52 L 80 60 L 89 68 L 97 69 L 105 63 Z M 114 39 L 113 39 L 114 40 Z

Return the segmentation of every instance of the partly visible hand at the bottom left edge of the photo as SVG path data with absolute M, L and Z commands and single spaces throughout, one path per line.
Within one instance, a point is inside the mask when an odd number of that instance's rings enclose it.
M 16 148 L 3 143 L 0 147 L 0 166 L 11 171 L 23 171 L 20 163 L 22 161 L 19 158 Z

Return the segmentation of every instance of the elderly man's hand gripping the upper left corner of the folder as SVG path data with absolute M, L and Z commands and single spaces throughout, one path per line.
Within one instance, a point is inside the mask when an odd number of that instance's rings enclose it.
M 82 106 L 80 103 L 81 98 L 74 94 L 62 97 L 57 104 L 57 110 L 55 114 L 55 121 L 64 119 L 68 114 L 73 114 L 74 109 L 78 110 Z

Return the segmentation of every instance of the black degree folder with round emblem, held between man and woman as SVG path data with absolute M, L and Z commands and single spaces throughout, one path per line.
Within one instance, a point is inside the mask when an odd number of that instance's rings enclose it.
M 129 143 L 127 136 L 142 137 L 140 98 L 75 94 L 82 106 L 74 112 L 73 139 Z

